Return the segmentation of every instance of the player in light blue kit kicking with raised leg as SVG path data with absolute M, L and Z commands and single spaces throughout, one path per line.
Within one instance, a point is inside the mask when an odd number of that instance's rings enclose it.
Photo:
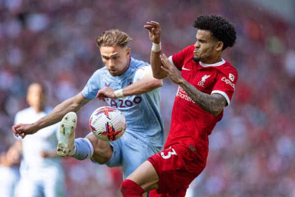
M 151 155 L 161 150 L 164 128 L 160 116 L 161 80 L 152 76 L 148 63 L 130 56 L 128 41 L 132 38 L 119 30 L 109 30 L 97 37 L 105 66 L 96 70 L 81 93 L 57 105 L 52 113 L 39 121 L 12 127 L 24 137 L 61 120 L 59 130 L 60 156 L 92 161 L 108 166 L 121 166 L 123 179 Z M 127 128 L 114 142 L 99 140 L 92 133 L 75 138 L 77 116 L 73 111 L 98 98 L 118 108 L 125 116 Z M 94 109 L 93 109 L 94 110 Z

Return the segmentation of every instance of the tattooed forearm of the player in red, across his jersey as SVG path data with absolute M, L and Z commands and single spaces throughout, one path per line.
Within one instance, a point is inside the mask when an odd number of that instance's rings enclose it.
M 195 103 L 213 116 L 217 116 L 227 104 L 226 99 L 222 95 L 203 93 L 185 80 L 180 86 Z

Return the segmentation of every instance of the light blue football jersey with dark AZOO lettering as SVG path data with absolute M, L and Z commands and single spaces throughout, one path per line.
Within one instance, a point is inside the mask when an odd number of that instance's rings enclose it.
M 138 81 L 140 69 L 150 65 L 146 62 L 131 58 L 128 69 L 119 76 L 112 76 L 107 67 L 96 70 L 82 90 L 86 99 L 94 99 L 97 91 L 110 87 L 114 90 L 122 89 Z M 164 126 L 160 115 L 160 88 L 148 93 L 127 96 L 119 99 L 106 99 L 107 104 L 119 109 L 126 118 L 126 131 L 147 144 L 162 148 L 164 141 Z M 93 109 L 94 110 L 94 109 Z

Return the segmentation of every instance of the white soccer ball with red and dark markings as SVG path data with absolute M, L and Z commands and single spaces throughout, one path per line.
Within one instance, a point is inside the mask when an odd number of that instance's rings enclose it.
M 103 106 L 91 114 L 89 127 L 97 138 L 103 141 L 115 141 L 124 134 L 126 120 L 118 109 Z

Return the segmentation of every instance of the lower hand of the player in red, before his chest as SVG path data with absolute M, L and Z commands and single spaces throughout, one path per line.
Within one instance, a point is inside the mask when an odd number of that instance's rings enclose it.
M 161 69 L 164 70 L 168 77 L 176 84 L 181 83 L 182 78 L 179 75 L 178 69 L 173 66 L 165 54 L 160 55 L 162 62 Z

